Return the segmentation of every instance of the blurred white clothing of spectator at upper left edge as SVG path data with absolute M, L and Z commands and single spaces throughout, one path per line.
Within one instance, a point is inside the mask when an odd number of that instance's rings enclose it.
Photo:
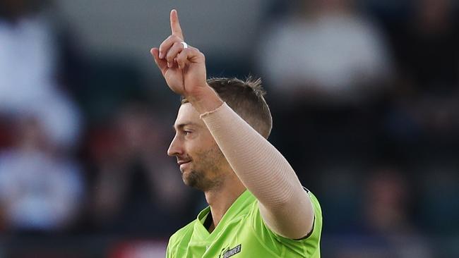
M 81 119 L 56 84 L 56 49 L 46 19 L 0 21 L 0 113 L 35 116 L 54 145 L 71 147 Z

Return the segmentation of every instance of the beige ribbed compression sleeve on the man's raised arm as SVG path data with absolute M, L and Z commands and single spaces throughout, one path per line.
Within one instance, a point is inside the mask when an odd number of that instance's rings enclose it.
M 294 170 L 273 145 L 223 104 L 201 115 L 234 173 L 260 202 L 270 228 L 301 238 L 311 226 L 311 202 Z

